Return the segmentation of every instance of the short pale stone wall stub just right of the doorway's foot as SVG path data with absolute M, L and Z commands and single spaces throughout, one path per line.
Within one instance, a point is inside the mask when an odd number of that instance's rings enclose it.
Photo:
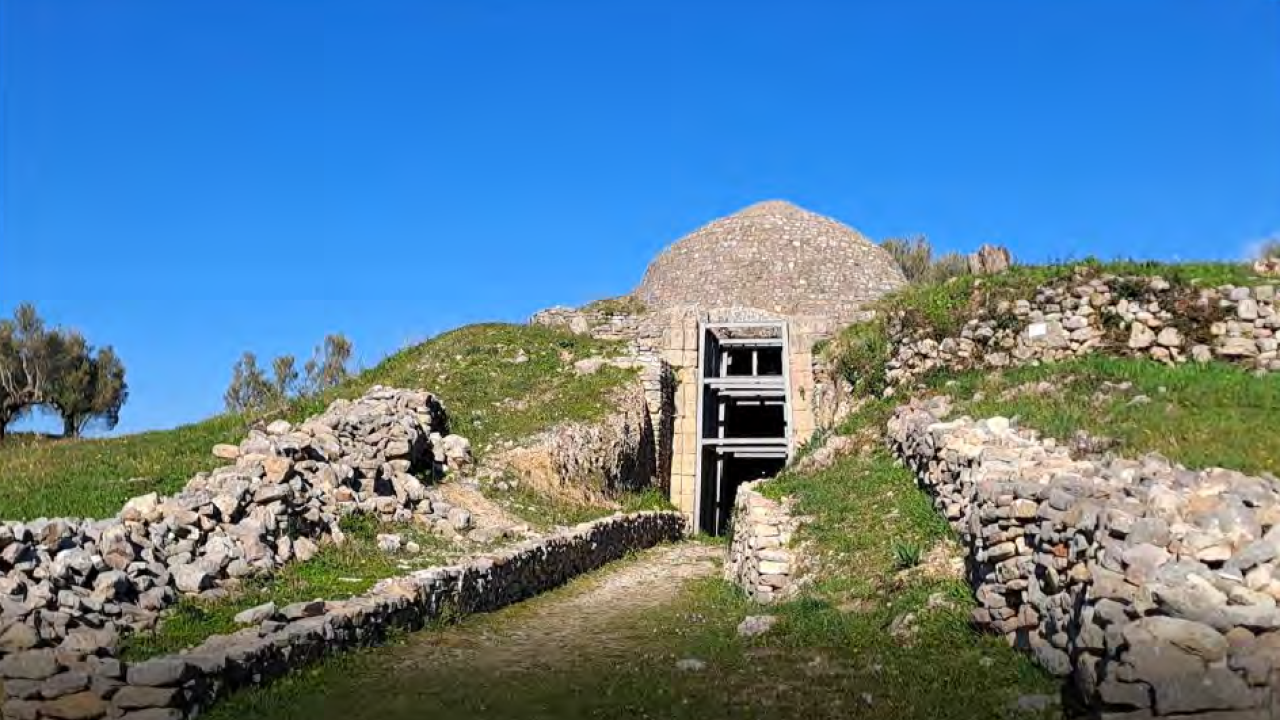
M 801 584 L 800 557 L 791 547 L 800 521 L 790 502 L 760 495 L 768 480 L 744 483 L 733 500 L 733 538 L 724 579 L 741 587 L 751 600 L 776 602 L 795 596 Z

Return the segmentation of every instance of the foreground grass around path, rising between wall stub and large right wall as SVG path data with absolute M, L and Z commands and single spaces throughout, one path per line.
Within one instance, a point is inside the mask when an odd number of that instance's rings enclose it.
M 963 580 L 900 574 L 893 543 L 931 546 L 946 537 L 928 500 L 883 452 L 844 459 L 828 470 L 788 477 L 782 487 L 815 512 L 805 537 L 828 565 L 801 600 L 769 609 L 709 578 L 675 602 L 617 619 L 598 643 L 520 667 L 434 664 L 467 637 L 522 632 L 538 603 L 568 588 L 490 616 L 463 620 L 447 637 L 419 633 L 390 648 L 332 659 L 215 706 L 215 720 L 408 720 L 429 707 L 440 717 L 771 717 L 972 719 L 1010 717 L 1020 694 L 1056 694 L 1056 683 L 1002 641 L 974 633 Z M 611 569 L 602 573 L 608 574 Z M 945 601 L 928 607 L 929 598 Z M 748 615 L 778 624 L 742 638 Z M 909 639 L 890 633 L 914 614 Z M 536 615 L 534 615 L 536 616 Z M 451 639 L 452 638 L 452 639 Z M 677 670 L 699 659 L 703 671 Z

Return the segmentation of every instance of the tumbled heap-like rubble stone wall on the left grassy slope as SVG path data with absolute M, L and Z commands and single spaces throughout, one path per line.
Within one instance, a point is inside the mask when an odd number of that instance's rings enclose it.
M 415 477 L 470 462 L 428 392 L 375 387 L 298 427 L 278 420 L 214 454 L 229 465 L 111 519 L 0 523 L 0 657 L 110 647 L 179 594 L 219 596 L 246 577 L 340 542 L 339 518 L 447 521 Z

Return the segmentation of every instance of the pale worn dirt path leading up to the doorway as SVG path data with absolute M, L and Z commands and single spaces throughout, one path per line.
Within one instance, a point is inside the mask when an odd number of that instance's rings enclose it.
M 594 661 L 632 652 L 630 619 L 675 600 L 689 580 L 714 574 L 724 550 L 698 543 L 663 546 L 609 566 L 582 587 L 538 598 L 493 621 L 445 629 L 413 643 L 406 670 L 470 667 L 534 670 L 589 655 Z

